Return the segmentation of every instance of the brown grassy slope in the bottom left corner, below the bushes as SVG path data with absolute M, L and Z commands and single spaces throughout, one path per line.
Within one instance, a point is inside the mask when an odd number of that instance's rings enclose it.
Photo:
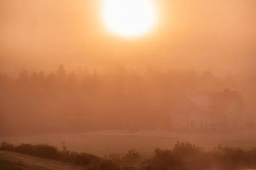
M 84 170 L 84 168 L 0 150 L 0 170 Z

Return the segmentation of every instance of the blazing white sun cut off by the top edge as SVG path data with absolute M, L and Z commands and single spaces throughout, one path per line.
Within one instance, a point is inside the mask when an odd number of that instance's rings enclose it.
M 125 37 L 148 33 L 157 17 L 153 0 L 104 0 L 102 14 L 106 28 Z

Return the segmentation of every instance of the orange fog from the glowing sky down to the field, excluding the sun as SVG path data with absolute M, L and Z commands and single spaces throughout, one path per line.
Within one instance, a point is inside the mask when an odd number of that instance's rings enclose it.
M 0 1 L 0 136 L 254 130 L 254 0 L 155 0 L 133 38 L 101 3 Z

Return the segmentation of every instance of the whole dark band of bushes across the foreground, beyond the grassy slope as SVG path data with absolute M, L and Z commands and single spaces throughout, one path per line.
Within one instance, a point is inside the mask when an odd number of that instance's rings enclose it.
M 256 147 L 248 150 L 218 146 L 207 151 L 190 143 L 179 143 L 169 150 L 155 149 L 145 158 L 135 150 L 125 155 L 110 154 L 103 158 L 88 153 L 77 153 L 63 146 L 58 150 L 48 144 L 2 143 L 1 150 L 22 153 L 40 158 L 68 162 L 92 170 L 244 170 L 256 168 Z

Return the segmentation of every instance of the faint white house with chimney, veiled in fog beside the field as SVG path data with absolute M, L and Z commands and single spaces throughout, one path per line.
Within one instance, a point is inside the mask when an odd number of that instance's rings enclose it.
M 236 91 L 181 96 L 171 111 L 173 129 L 223 129 L 244 126 L 244 105 Z

